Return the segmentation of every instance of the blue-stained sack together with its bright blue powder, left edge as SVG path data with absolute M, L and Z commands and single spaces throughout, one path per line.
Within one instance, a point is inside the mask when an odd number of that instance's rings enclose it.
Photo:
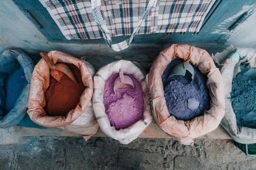
M 4 50 L 0 55 L 0 127 L 19 124 L 25 117 L 33 61 L 21 50 Z

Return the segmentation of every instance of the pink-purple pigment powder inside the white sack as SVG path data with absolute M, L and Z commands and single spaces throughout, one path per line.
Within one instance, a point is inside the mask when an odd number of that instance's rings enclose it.
M 110 125 L 116 130 L 125 129 L 143 119 L 143 90 L 140 83 L 131 74 L 129 76 L 134 83 L 134 90 L 124 87 L 114 92 L 114 81 L 119 74 L 112 74 L 104 87 L 104 106 Z

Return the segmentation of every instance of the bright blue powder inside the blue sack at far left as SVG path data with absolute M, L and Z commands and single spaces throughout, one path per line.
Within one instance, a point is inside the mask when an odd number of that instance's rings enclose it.
M 17 99 L 22 93 L 23 89 L 28 84 L 22 67 L 15 70 L 6 80 L 5 92 L 6 103 L 5 110 L 8 113 L 15 106 Z

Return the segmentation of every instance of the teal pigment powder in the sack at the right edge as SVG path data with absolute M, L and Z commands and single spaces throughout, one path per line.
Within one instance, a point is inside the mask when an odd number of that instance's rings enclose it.
M 250 69 L 250 71 L 256 69 Z M 255 72 L 256 73 L 256 72 Z M 256 79 L 241 71 L 232 82 L 231 103 L 237 125 L 256 129 Z

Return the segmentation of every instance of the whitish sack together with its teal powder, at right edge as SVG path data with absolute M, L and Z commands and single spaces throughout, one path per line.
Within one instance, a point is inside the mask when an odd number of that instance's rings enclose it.
M 256 143 L 256 48 L 237 48 L 228 55 L 220 53 L 219 57 L 225 58 L 220 68 L 225 85 L 225 117 L 221 126 L 238 143 Z M 246 70 L 241 71 L 241 64 Z

